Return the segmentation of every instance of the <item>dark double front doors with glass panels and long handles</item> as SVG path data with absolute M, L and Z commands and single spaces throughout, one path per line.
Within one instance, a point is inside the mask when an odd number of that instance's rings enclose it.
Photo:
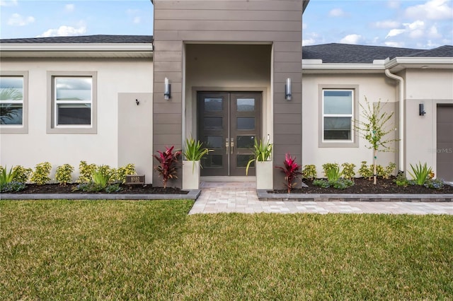
M 197 93 L 198 139 L 212 152 L 202 176 L 244 176 L 255 138 L 261 133 L 261 93 Z M 255 175 L 252 167 L 249 175 Z

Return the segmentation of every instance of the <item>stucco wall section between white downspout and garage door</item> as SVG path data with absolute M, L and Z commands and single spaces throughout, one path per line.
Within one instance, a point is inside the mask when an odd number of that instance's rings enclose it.
M 406 69 L 401 76 L 406 80 L 406 170 L 420 162 L 436 171 L 436 109 L 438 104 L 453 104 L 453 70 Z M 424 116 L 418 114 L 420 103 Z

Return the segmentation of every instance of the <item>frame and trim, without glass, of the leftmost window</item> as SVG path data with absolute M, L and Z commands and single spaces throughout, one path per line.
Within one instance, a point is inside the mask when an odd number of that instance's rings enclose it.
M 22 78 L 22 100 L 0 101 L 2 104 L 22 104 L 22 124 L 0 124 L 0 134 L 28 134 L 28 71 L 0 71 L 5 78 Z

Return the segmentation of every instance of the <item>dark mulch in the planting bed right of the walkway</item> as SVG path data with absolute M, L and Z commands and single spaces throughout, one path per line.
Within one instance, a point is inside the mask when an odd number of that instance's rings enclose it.
M 308 187 L 302 189 L 292 189 L 292 194 L 453 194 L 453 186 L 445 185 L 442 189 L 430 189 L 419 185 L 409 185 L 408 187 L 397 186 L 394 178 L 377 179 L 377 184 L 368 179 L 354 179 L 354 186 L 346 189 L 335 189 L 333 187 L 322 188 L 313 185 L 313 181 L 305 179 L 304 183 Z M 286 194 L 287 190 L 269 191 L 274 194 Z

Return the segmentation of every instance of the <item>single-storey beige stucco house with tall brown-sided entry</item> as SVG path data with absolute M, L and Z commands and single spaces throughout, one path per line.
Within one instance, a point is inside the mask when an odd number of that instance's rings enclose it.
M 453 47 L 302 49 L 307 4 L 156 0 L 154 36 L 1 40 L 0 88 L 22 97 L 0 100 L 2 116 L 21 112 L 0 125 L 0 164 L 134 163 L 160 186 L 151 154 L 193 136 L 214 150 L 205 181 L 253 181 L 249 148 L 263 138 L 275 166 L 291 153 L 321 175 L 324 163 L 371 162 L 352 126 L 367 97 L 395 112 L 399 141 L 379 164 L 426 162 L 453 181 Z M 272 177 L 282 187 L 280 170 Z

